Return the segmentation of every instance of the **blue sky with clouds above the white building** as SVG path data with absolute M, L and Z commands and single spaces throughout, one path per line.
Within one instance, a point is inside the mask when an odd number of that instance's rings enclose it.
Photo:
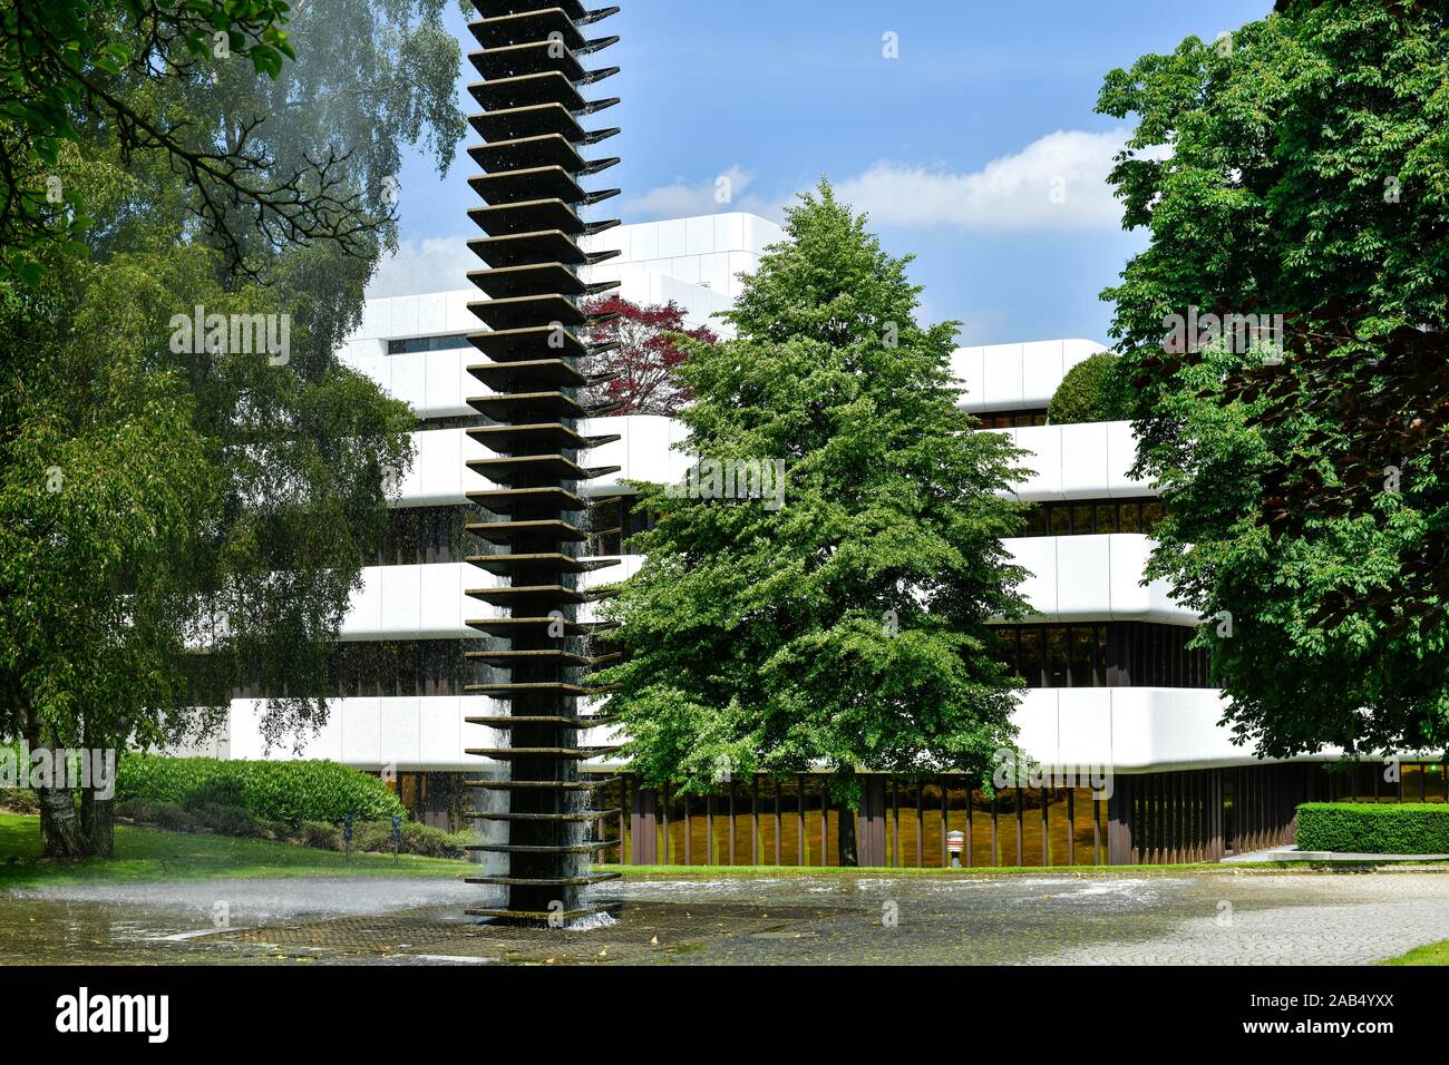
M 1122 230 L 1103 181 L 1126 129 L 1093 113 L 1101 78 L 1271 9 L 1271 0 L 617 1 L 623 10 L 593 32 L 622 41 L 590 64 L 623 68 L 593 93 L 623 99 L 594 119 L 623 128 L 603 146 L 623 162 L 594 178 L 623 188 L 606 204 L 610 216 L 733 209 L 780 220 L 782 204 L 826 175 L 871 214 L 887 249 L 916 254 L 923 317 L 961 320 L 964 343 L 1108 339 L 1111 309 L 1098 293 L 1142 236 Z M 471 46 L 456 9 L 449 19 Z M 887 33 L 898 58 L 882 55 Z M 467 64 L 465 78 L 474 80 Z M 471 170 L 462 146 L 443 178 L 409 154 L 403 246 L 374 294 L 462 287 Z M 729 207 L 714 201 L 720 175 L 732 180 Z

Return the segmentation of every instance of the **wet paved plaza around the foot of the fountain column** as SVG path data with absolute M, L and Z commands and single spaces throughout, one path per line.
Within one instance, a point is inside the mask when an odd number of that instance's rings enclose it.
M 0 895 L 0 964 L 1371 964 L 1449 939 L 1449 874 L 729 877 L 596 888 L 590 932 L 483 926 L 454 880 Z M 491 900 L 497 901 L 497 900 Z

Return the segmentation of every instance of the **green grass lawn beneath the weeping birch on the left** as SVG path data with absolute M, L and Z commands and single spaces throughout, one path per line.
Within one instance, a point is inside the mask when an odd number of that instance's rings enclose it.
M 62 884 L 223 880 L 233 877 L 462 877 L 446 858 L 317 851 L 265 839 L 116 826 L 116 856 L 75 862 L 41 858 L 41 819 L 0 813 L 0 890 Z

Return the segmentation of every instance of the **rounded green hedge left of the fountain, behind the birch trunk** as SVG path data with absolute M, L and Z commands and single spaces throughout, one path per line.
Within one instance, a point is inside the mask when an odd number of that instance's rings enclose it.
M 245 762 L 126 753 L 116 800 L 238 807 L 264 822 L 388 820 L 407 810 L 377 777 L 336 762 Z

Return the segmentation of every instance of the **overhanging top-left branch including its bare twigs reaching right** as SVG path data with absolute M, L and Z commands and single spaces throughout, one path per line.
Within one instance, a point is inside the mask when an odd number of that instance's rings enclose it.
M 0 78 L 32 90 L 0 106 L 0 246 L 6 248 L 0 275 L 13 271 L 33 284 L 38 265 L 30 254 L 46 245 L 74 245 L 88 225 L 72 196 L 36 187 L 43 170 L 55 165 L 59 146 L 80 139 L 78 113 L 113 125 L 123 152 L 159 152 L 170 159 L 172 171 L 196 190 L 194 212 L 236 272 L 255 277 L 235 226 L 243 216 L 251 216 L 272 249 L 333 242 L 346 255 L 369 254 L 369 238 L 393 217 L 368 212 L 361 193 L 348 188 L 342 175 L 348 154 L 306 156 L 304 165 L 274 175 L 275 161 L 249 145 L 264 119 L 243 123 L 235 142 L 217 151 L 188 143 L 190 123 L 142 114 L 114 85 L 123 72 L 187 77 L 223 36 L 227 55 L 249 58 L 258 74 L 275 77 L 283 59 L 294 58 L 281 30 L 285 10 L 280 0 L 175 6 L 52 0 L 43 9 L 33 0 L 14 0 L 0 13 Z M 120 39 L 122 29 L 132 35 L 129 42 Z M 104 36 L 110 39 L 103 42 Z

